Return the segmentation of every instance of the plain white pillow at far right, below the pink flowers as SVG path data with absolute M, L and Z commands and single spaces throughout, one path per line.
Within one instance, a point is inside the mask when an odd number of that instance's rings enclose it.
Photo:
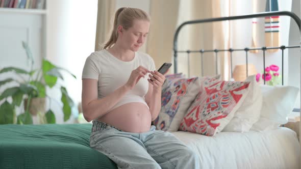
M 299 89 L 292 86 L 260 86 L 263 101 L 260 119 L 251 130 L 271 130 L 288 122 L 294 108 Z

